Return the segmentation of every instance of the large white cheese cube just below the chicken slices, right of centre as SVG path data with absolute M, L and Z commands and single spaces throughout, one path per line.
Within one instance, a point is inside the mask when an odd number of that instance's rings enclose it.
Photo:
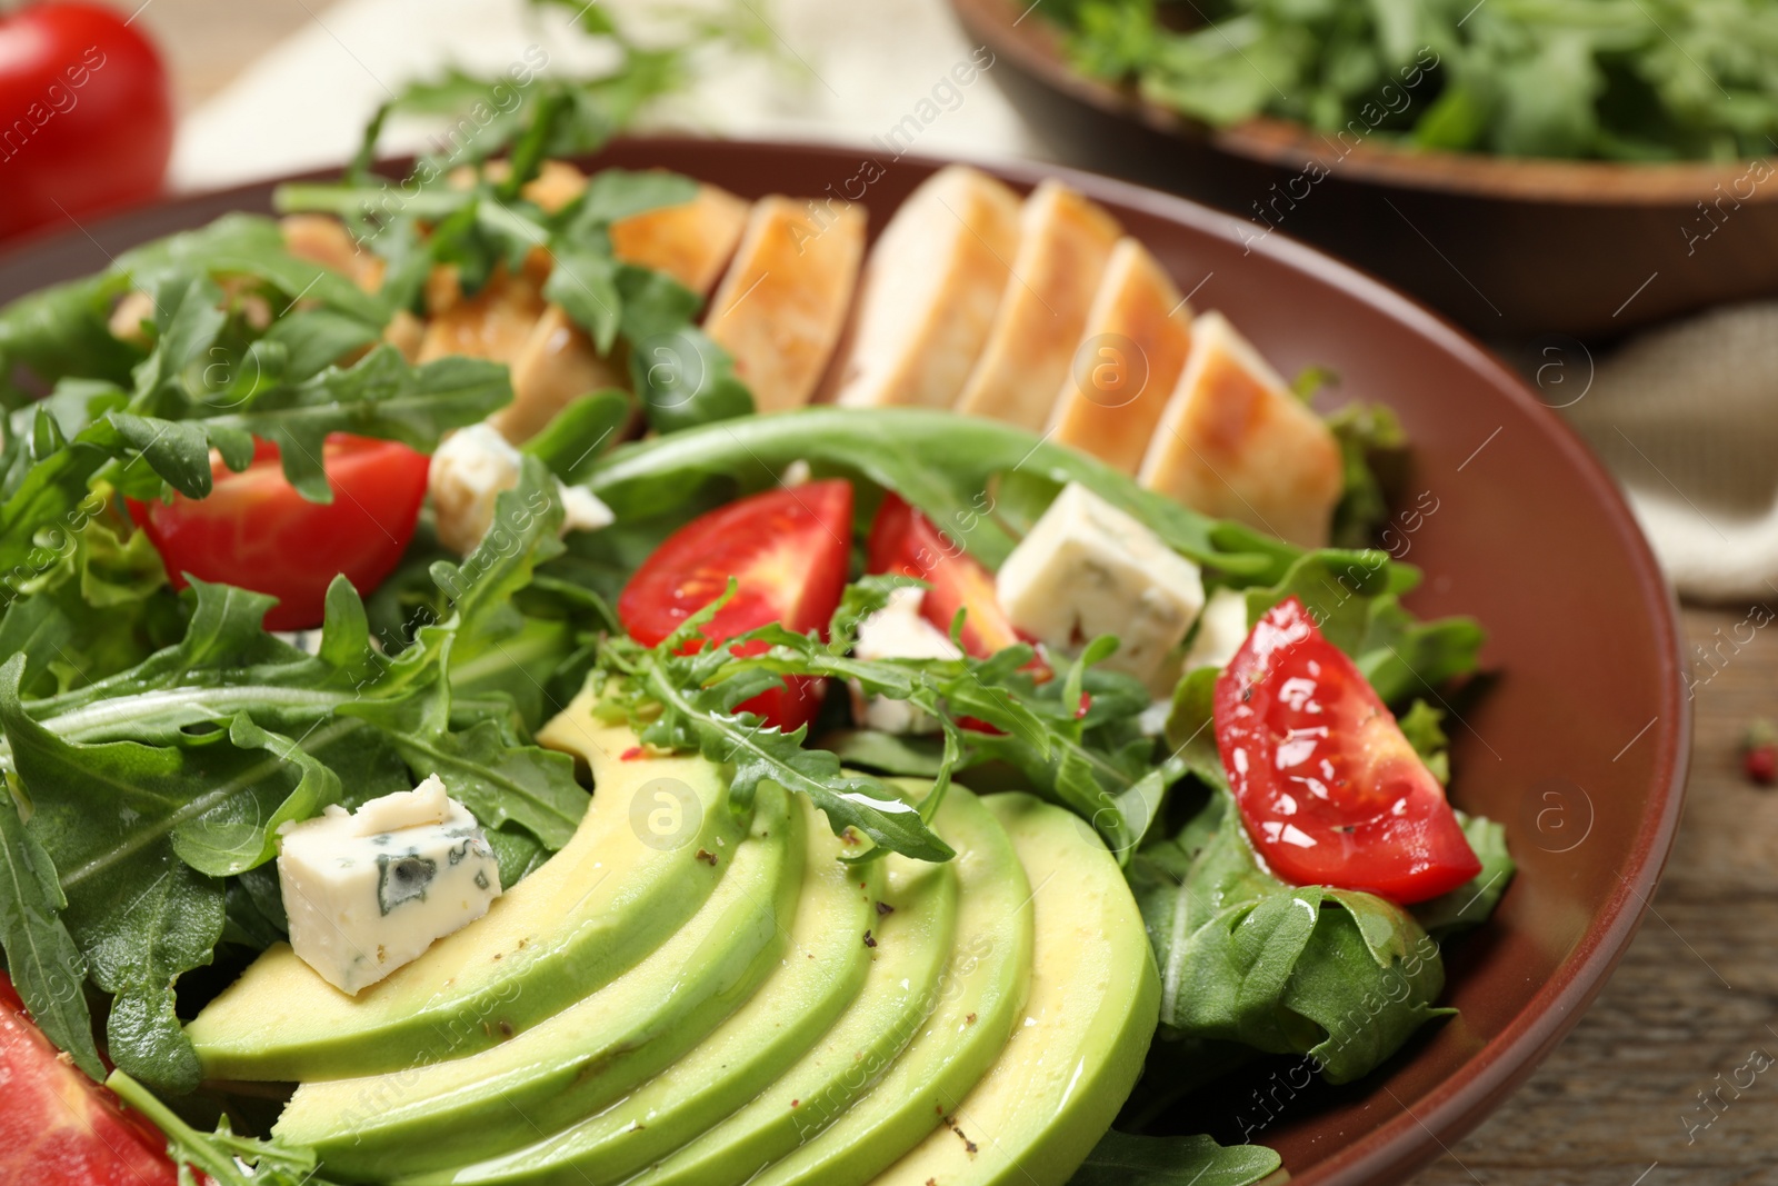
M 1085 485 L 1070 482 L 1031 526 L 996 578 L 1012 624 L 1054 651 L 1117 635 L 1104 667 L 1170 692 L 1179 645 L 1198 610 L 1198 565 Z

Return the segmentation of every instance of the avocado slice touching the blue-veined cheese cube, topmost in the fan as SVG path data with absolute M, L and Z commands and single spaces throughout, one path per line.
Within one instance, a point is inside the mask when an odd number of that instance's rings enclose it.
M 747 832 L 725 770 L 697 756 L 622 761 L 640 741 L 597 724 L 589 692 L 539 740 L 592 768 L 592 807 L 567 846 L 473 926 L 357 996 L 288 944 L 267 950 L 185 1028 L 206 1078 L 334 1079 L 461 1058 L 608 983 L 692 918 Z M 672 843 L 633 821 L 651 818 L 663 788 L 685 816 Z

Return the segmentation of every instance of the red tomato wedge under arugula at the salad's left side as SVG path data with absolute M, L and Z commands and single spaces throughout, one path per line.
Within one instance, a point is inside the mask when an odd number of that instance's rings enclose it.
M 284 480 L 277 446 L 261 441 L 240 473 L 212 466 L 208 498 L 132 500 L 130 517 L 155 541 L 176 589 L 188 573 L 274 594 L 267 629 L 309 629 L 322 624 L 336 574 L 370 594 L 400 564 L 428 464 L 396 441 L 334 434 L 322 453 L 334 500 L 311 503 Z

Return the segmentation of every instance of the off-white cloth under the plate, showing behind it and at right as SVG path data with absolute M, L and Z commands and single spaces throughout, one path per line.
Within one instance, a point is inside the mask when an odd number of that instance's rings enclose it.
M 647 0 L 599 2 L 629 23 L 649 16 Z M 653 128 L 861 146 L 900 128 L 896 148 L 912 139 L 916 153 L 1047 155 L 946 0 L 747 7 L 766 20 L 779 60 L 708 52 L 699 80 L 653 116 Z M 384 98 L 444 64 L 496 75 L 526 50 L 535 60 L 541 46 L 544 73 L 606 66 L 569 18 L 525 0 L 341 0 L 183 121 L 174 185 L 213 188 L 336 165 Z M 953 69 L 971 59 L 987 69 L 958 85 Z M 421 149 L 437 130 L 391 121 L 384 149 Z M 1584 347 L 1563 343 L 1533 354 L 1527 375 L 1611 466 L 1682 594 L 1778 594 L 1778 304 L 1652 331 L 1597 368 Z

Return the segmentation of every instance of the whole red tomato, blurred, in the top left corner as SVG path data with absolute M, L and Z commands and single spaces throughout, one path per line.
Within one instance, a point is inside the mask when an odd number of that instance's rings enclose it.
M 0 12 L 0 238 L 153 197 L 171 153 L 167 71 L 124 14 Z

